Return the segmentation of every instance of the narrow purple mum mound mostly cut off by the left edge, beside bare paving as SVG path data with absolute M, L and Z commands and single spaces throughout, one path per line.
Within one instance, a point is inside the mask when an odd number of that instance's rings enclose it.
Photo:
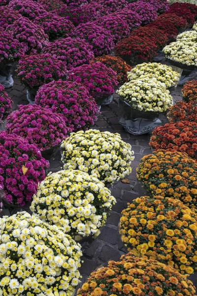
M 12 100 L 8 97 L 4 86 L 0 84 L 0 123 L 3 122 L 12 111 Z

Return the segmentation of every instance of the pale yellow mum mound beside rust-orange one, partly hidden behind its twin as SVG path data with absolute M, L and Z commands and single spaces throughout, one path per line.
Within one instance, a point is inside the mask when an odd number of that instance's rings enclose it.
M 173 71 L 170 66 L 160 63 L 139 64 L 131 69 L 131 72 L 128 72 L 127 74 L 128 80 L 156 78 L 158 81 L 164 82 L 166 88 L 176 85 L 181 76 L 178 72 Z

